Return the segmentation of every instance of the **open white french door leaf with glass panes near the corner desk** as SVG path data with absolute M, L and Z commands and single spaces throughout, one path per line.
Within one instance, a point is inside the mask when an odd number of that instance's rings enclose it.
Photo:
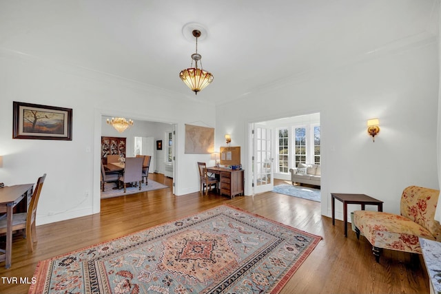
M 272 191 L 273 156 L 271 129 L 265 125 L 254 124 L 253 138 L 253 186 L 254 193 Z

